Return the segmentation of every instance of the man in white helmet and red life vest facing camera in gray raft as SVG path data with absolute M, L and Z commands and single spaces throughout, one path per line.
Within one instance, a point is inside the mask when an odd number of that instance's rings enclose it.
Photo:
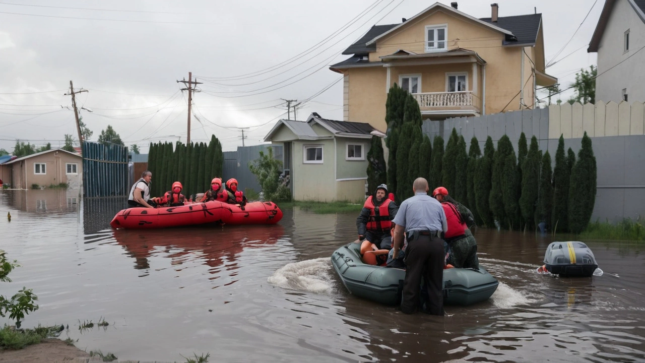
M 390 198 L 386 198 L 388 186 L 381 184 L 374 194 L 369 196 L 362 207 L 361 214 L 356 218 L 356 227 L 359 240 L 368 240 L 376 245 L 377 249 L 392 248 L 392 234 L 394 228 L 392 219 L 399 211 L 399 206 Z

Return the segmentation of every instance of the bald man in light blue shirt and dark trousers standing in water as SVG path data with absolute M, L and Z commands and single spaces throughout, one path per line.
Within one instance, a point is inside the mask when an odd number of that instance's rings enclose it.
M 401 203 L 394 217 L 393 258 L 399 256 L 403 245 L 403 232 L 408 238 L 406 247 L 406 274 L 403 282 L 401 311 L 417 312 L 421 278 L 428 288 L 427 311 L 432 315 L 444 315 L 443 267 L 444 247 L 441 233 L 448 231 L 446 213 L 441 203 L 428 195 L 428 181 L 417 178 L 412 191 L 414 196 Z

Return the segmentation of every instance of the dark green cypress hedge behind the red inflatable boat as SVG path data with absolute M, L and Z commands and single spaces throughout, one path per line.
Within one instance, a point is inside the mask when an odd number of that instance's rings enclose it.
M 186 198 L 204 192 L 212 178 L 222 176 L 223 167 L 222 144 L 215 135 L 208 145 L 203 142 L 184 145 L 177 141 L 173 149 L 169 142 L 150 143 L 148 170 L 153 177 L 150 196 L 162 196 L 174 182 L 182 183 Z

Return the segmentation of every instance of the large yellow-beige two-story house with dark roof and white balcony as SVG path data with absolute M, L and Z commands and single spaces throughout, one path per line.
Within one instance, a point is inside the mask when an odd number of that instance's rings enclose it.
M 478 116 L 535 107 L 545 73 L 542 14 L 477 19 L 457 3 L 426 8 L 400 24 L 375 25 L 332 65 L 344 75 L 344 120 L 385 130 L 385 103 L 397 83 L 424 119 Z

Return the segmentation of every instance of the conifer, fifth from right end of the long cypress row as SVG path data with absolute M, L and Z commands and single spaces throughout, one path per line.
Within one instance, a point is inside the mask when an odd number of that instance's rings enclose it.
M 526 140 L 525 140 L 526 141 Z M 525 229 L 535 227 L 535 208 L 539 190 L 541 155 L 537 138 L 531 138 L 531 147 L 524 157 L 522 164 L 522 194 L 520 196 L 520 211 Z

